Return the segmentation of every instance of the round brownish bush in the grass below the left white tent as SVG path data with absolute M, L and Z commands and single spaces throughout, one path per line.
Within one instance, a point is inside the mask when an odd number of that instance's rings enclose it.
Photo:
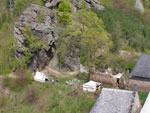
M 34 85 L 28 86 L 24 92 L 24 101 L 29 104 L 35 104 L 38 100 L 38 88 Z

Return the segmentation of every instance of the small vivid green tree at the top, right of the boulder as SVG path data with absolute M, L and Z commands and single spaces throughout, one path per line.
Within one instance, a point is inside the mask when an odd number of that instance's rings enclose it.
M 68 23 L 70 21 L 72 6 L 66 0 L 62 0 L 58 11 L 60 14 L 59 21 L 62 23 Z

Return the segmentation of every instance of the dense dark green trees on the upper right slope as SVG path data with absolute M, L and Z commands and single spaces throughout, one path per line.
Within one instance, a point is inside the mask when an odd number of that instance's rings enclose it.
M 135 48 L 136 50 L 143 51 L 144 48 L 150 47 L 150 33 L 148 32 L 149 26 L 142 23 L 137 17 L 127 14 L 120 9 L 106 8 L 101 13 L 96 11 L 99 18 L 102 18 L 106 30 L 113 33 L 113 24 L 117 21 L 120 24 L 120 31 L 122 32 L 121 38 L 126 40 L 126 44 Z

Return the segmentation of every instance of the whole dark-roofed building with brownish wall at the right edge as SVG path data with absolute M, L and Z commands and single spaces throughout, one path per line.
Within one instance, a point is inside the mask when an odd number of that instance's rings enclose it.
M 129 87 L 133 87 L 133 84 L 137 84 L 139 90 L 150 90 L 150 55 L 140 56 L 130 74 Z

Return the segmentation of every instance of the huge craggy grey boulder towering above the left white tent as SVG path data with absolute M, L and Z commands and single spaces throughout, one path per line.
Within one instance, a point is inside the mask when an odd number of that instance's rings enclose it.
M 40 13 L 42 13 L 42 17 L 39 17 Z M 39 18 L 43 18 L 43 20 L 41 21 Z M 25 54 L 26 37 L 24 30 L 27 26 L 31 27 L 33 35 L 39 37 L 39 40 L 45 38 L 46 45 L 49 46 L 48 49 L 35 51 L 30 63 L 32 71 L 43 68 L 52 58 L 52 50 L 55 48 L 55 41 L 58 38 L 54 31 L 56 23 L 57 16 L 55 10 L 33 4 L 23 12 L 15 23 L 14 34 L 18 41 L 18 49 L 15 55 L 18 59 L 21 59 Z

